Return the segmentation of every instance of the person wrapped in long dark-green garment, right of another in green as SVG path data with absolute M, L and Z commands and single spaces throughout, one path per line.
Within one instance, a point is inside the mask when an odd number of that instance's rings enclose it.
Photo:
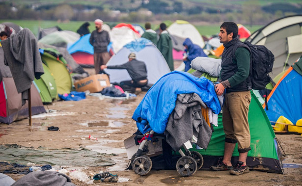
M 166 30 L 165 23 L 161 23 L 160 25 L 160 38 L 157 42 L 157 48 L 163 56 L 165 57 L 165 61 L 167 62 L 171 71 L 174 70 L 174 62 L 172 56 L 172 39 Z

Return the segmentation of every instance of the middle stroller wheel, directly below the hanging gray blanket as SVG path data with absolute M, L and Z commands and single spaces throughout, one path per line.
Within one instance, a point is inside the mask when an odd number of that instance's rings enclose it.
M 197 163 L 192 157 L 184 156 L 178 159 L 176 169 L 182 176 L 192 176 L 197 171 Z

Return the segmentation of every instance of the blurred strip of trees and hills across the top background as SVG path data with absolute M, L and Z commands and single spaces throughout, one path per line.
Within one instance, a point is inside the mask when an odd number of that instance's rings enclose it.
M 134 0 L 132 0 L 134 2 Z M 141 5 L 133 8 L 123 8 L 112 11 L 100 6 L 79 4 L 49 4 L 39 7 L 23 5 L 15 7 L 13 3 L 0 2 L 1 19 L 21 20 L 57 20 L 91 21 L 101 18 L 106 22 L 146 22 L 163 20 L 186 20 L 189 22 L 220 23 L 233 21 L 241 24 L 265 25 L 277 18 L 292 14 L 302 14 L 302 3 L 273 3 L 260 6 L 258 0 L 247 0 L 241 6 L 187 7 L 182 2 L 172 4 L 164 0 L 142 0 Z M 222 8 L 220 8 L 222 7 Z M 117 8 L 116 8 L 117 9 Z

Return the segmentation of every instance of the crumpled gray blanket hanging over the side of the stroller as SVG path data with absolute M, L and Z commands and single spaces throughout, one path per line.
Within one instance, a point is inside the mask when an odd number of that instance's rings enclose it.
M 174 151 L 178 151 L 193 135 L 197 137 L 196 144 L 199 147 L 208 147 L 212 130 L 201 114 L 201 106 L 206 107 L 196 93 L 177 96 L 175 108 L 165 128 L 166 142 Z

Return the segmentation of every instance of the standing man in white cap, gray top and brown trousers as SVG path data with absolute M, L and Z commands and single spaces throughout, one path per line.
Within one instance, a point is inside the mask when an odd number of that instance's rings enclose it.
M 94 24 L 96 29 L 92 31 L 89 42 L 93 46 L 94 50 L 95 74 L 99 74 L 100 66 L 105 65 L 110 59 L 110 54 L 107 51 L 107 46 L 110 43 L 110 37 L 109 33 L 102 29 L 102 20 L 96 19 Z

